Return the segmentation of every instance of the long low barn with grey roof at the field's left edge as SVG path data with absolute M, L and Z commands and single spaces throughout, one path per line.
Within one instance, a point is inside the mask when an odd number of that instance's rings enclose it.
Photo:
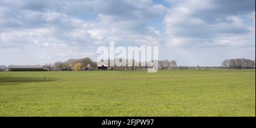
M 10 65 L 9 71 L 44 71 L 41 65 Z

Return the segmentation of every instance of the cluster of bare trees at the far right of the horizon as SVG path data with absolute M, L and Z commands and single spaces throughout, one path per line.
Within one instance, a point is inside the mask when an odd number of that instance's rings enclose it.
M 226 69 L 255 69 L 255 59 L 226 59 L 222 62 L 222 66 Z

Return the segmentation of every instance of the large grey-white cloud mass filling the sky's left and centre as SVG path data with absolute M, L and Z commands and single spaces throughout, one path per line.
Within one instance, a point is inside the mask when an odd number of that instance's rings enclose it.
M 0 49 L 2 52 L 19 49 L 16 54 L 24 56 L 31 56 L 28 52 L 42 52 L 51 56 L 52 62 L 54 58 L 65 60 L 92 55 L 88 53 L 93 53 L 100 45 L 108 45 L 109 41 L 119 42 L 119 45 L 159 44 L 159 31 L 147 22 L 163 15 L 165 10 L 166 7 L 151 0 L 2 0 Z M 26 52 L 22 51 L 25 49 Z M 13 61 L 13 56 L 6 58 L 8 64 L 20 62 Z

